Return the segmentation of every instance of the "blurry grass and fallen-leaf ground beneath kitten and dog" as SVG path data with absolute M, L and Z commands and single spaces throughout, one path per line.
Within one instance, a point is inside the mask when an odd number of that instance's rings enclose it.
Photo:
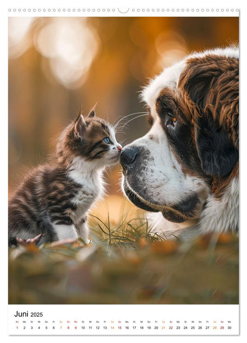
M 163 241 L 143 211 L 109 201 L 114 215 L 105 204 L 94 211 L 89 245 L 30 243 L 9 252 L 10 304 L 238 303 L 236 236 Z

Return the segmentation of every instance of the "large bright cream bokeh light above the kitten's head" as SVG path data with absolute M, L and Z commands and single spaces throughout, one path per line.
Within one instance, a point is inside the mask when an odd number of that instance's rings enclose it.
M 41 28 L 34 44 L 50 59 L 55 78 L 65 87 L 75 89 L 81 86 L 75 83 L 89 70 L 97 54 L 99 36 L 86 18 L 53 18 Z

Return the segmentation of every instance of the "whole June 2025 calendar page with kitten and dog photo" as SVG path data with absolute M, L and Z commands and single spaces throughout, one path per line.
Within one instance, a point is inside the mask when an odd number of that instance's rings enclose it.
M 239 9 L 7 11 L 8 334 L 239 335 Z

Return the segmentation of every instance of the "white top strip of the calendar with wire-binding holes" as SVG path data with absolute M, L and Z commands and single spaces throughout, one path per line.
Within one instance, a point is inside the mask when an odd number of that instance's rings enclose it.
M 12 0 L 9 1 L 9 16 L 87 16 L 87 17 L 130 17 L 130 16 L 156 16 L 156 17 L 235 17 L 239 16 L 238 2 L 236 1 L 213 1 L 207 0 L 203 5 L 198 1 L 164 1 L 155 0 L 150 4 L 147 0 L 138 1 L 125 0 L 119 1 L 116 6 L 115 1 L 80 1 L 72 0 L 68 2 L 62 0 L 49 1 L 43 0 L 41 6 L 37 1 Z M 10 4 L 13 4 L 12 6 Z M 34 6 L 35 4 L 35 6 Z M 90 6 L 85 6 L 90 4 Z M 173 7 L 174 5 L 174 7 Z M 236 6 L 237 5 L 237 6 Z

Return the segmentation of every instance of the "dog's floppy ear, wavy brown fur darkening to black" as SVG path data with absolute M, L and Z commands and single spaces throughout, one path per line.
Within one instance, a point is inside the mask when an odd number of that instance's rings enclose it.
M 178 88 L 195 123 L 202 170 L 227 175 L 239 158 L 238 60 L 217 55 L 191 58 Z

